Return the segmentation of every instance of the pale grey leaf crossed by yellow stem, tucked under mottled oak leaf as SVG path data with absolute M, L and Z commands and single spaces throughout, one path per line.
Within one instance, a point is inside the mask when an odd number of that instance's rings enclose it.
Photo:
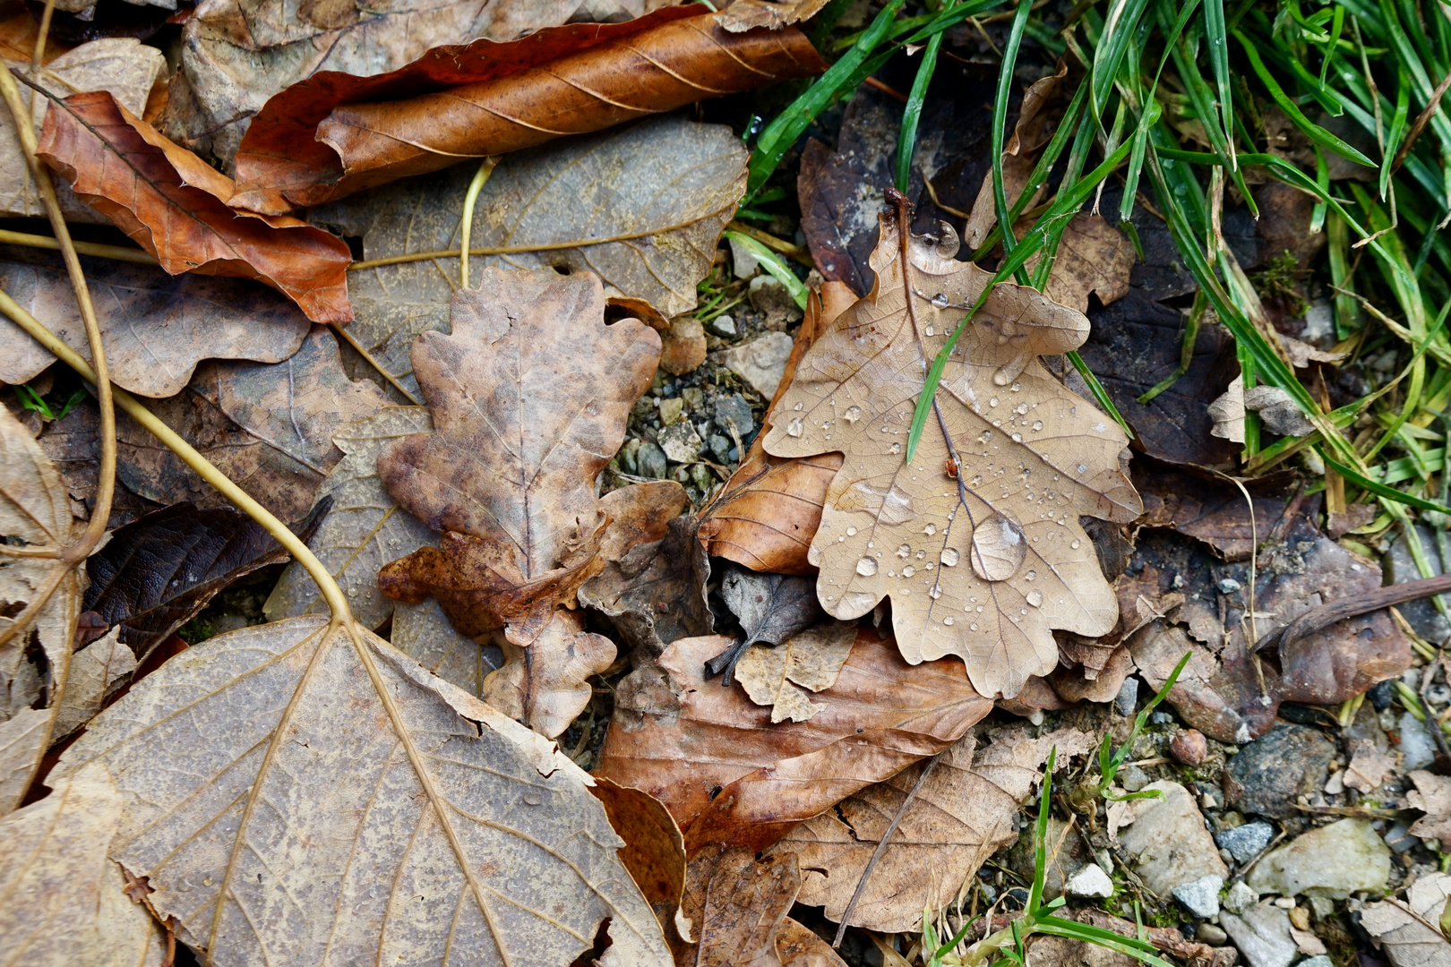
M 319 499 L 332 497 L 332 507 L 318 523 L 308 548 L 347 594 L 353 616 L 369 628 L 382 628 L 398 607 L 377 589 L 379 568 L 399 554 L 412 554 L 435 542 L 434 532 L 389 496 L 377 474 L 377 457 L 392 442 L 414 433 L 431 433 L 432 429 L 427 407 L 387 406 L 332 435 L 332 444 L 344 455 L 318 489 Z M 316 583 L 296 563 L 287 565 L 263 606 L 268 621 L 324 615 L 326 610 Z M 393 644 L 418 658 L 398 639 Z M 448 680 L 463 687 L 460 681 Z M 477 684 L 464 690 L 479 693 Z

